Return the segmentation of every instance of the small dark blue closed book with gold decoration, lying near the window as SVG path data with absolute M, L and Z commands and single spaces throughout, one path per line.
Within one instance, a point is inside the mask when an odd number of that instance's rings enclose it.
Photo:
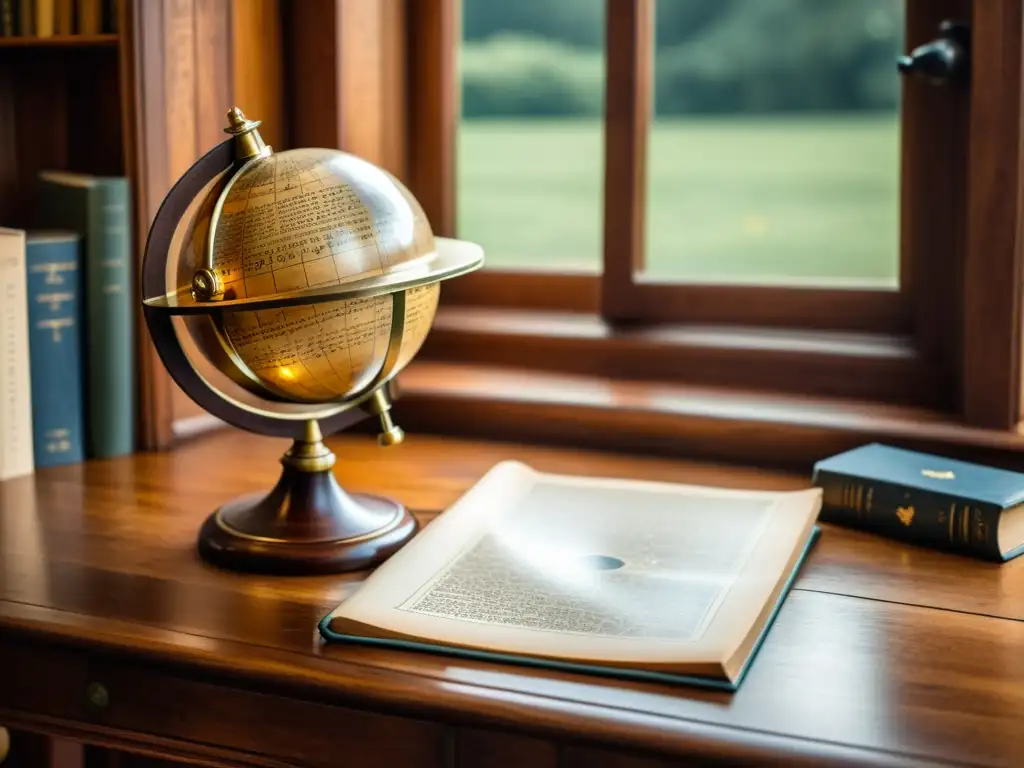
M 1024 474 L 871 443 L 814 466 L 822 522 L 1002 562 L 1024 551 Z

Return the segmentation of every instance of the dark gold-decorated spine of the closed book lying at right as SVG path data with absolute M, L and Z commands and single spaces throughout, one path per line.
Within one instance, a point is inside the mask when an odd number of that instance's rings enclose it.
M 818 470 L 819 519 L 902 542 L 1001 561 L 1001 507 L 972 499 Z

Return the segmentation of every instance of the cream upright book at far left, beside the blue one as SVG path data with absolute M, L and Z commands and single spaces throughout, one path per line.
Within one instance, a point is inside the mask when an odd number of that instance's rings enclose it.
M 0 480 L 32 473 L 25 232 L 0 228 Z

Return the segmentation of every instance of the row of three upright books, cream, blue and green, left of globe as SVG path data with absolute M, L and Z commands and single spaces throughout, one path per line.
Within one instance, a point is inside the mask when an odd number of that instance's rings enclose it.
M 37 219 L 0 229 L 0 479 L 134 449 L 127 180 L 44 172 Z

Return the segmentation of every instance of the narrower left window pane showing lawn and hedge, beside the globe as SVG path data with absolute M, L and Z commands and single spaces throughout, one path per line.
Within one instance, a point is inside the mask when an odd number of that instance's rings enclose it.
M 604 0 L 463 0 L 457 228 L 489 267 L 601 264 Z

